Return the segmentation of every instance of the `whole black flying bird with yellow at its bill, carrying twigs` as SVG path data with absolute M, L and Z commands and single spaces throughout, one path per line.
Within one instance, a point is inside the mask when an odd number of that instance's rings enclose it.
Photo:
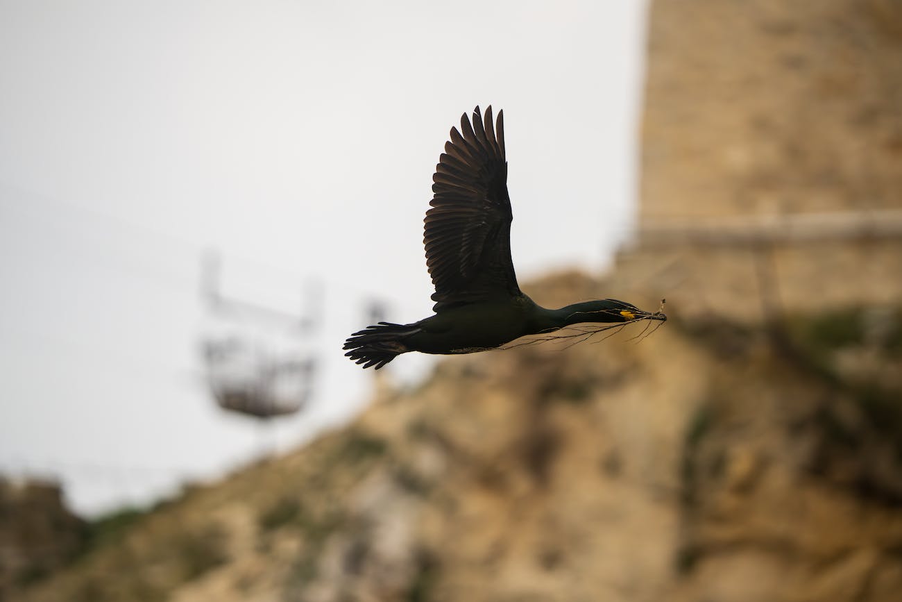
M 615 299 L 584 301 L 559 310 L 538 306 L 520 292 L 511 262 L 511 199 L 507 191 L 504 112 L 492 125 L 474 109 L 464 114 L 432 177 L 423 242 L 436 287 L 436 315 L 413 324 L 379 322 L 345 340 L 345 356 L 378 370 L 401 353 L 474 353 L 524 335 L 583 322 L 667 320 Z

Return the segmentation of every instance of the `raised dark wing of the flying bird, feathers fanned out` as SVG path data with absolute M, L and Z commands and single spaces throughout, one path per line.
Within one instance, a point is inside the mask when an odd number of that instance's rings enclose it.
M 461 116 L 460 132 L 451 128 L 432 181 L 423 243 L 436 287 L 433 309 L 520 294 L 511 262 L 504 112 L 498 112 L 497 128 L 492 107 L 486 107 L 484 123 L 479 107 L 473 125 Z

